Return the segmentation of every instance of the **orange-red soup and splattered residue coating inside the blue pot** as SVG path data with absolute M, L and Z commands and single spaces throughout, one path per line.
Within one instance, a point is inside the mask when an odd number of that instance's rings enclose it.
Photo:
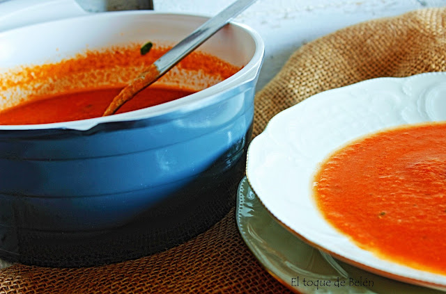
M 141 44 L 86 50 L 55 63 L 0 69 L 0 124 L 45 124 L 100 117 L 120 90 L 165 54 Z M 58 56 L 58 52 L 49 52 Z M 224 81 L 241 69 L 194 51 L 117 113 L 185 97 Z

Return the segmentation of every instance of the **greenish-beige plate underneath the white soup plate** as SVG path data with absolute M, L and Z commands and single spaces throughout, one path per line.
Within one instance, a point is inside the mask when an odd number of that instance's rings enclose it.
M 307 245 L 272 217 L 252 192 L 246 178 L 238 187 L 237 201 L 236 219 L 243 240 L 263 267 L 296 293 L 442 293 L 374 275 Z M 308 281 L 313 285 L 309 286 Z M 316 287 L 316 281 L 325 286 Z M 368 286 L 355 286 L 361 281 Z

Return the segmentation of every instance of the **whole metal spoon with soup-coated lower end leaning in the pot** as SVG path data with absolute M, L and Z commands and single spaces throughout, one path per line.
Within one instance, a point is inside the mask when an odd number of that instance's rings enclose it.
M 136 79 L 130 81 L 128 85 L 121 90 L 118 96 L 114 97 L 112 103 L 102 116 L 112 115 L 118 109 L 137 95 L 138 92 L 144 90 L 148 85 L 160 79 L 167 71 L 169 71 L 180 60 L 185 58 L 194 49 L 199 47 L 210 36 L 220 30 L 233 17 L 239 15 L 243 10 L 251 6 L 256 0 L 237 0 L 222 10 L 219 14 L 212 17 L 207 22 L 199 26 L 195 31 L 188 35 L 185 39 L 176 44 L 172 49 L 167 51 L 163 56 L 158 58 L 155 63 L 149 65 L 148 69 L 140 74 Z

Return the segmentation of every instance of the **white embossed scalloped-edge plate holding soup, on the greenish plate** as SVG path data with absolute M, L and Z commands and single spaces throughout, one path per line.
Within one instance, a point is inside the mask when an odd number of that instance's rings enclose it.
M 247 178 L 270 213 L 308 243 L 371 272 L 446 289 L 445 275 L 357 247 L 325 221 L 311 186 L 318 163 L 347 142 L 383 128 L 440 120 L 446 120 L 446 72 L 372 79 L 321 92 L 273 117 L 254 138 Z

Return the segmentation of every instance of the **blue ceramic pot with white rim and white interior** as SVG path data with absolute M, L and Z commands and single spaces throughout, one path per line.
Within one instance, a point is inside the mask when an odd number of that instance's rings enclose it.
M 7 13 L 26 3 L 16 1 L 0 4 L 8 8 L 3 19 L 13 19 Z M 25 8 L 20 19 L 36 12 Z M 29 17 L 36 23 L 19 28 L 3 23 L 0 71 L 57 62 L 87 47 L 174 44 L 206 21 L 142 10 L 72 13 L 49 22 Z M 0 126 L 2 259 L 68 267 L 134 259 L 197 236 L 233 207 L 263 42 L 251 28 L 231 23 L 199 50 L 243 68 L 190 96 L 139 111 Z

